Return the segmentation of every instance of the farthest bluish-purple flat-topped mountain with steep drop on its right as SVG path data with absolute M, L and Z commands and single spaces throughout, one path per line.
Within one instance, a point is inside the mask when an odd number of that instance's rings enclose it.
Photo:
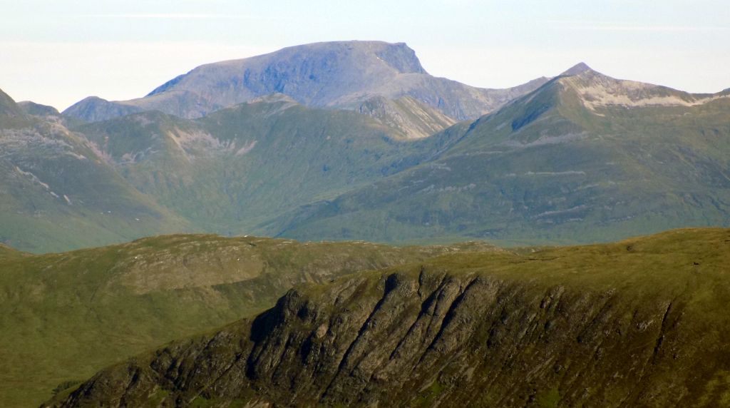
M 404 43 L 320 42 L 199 66 L 144 98 L 113 102 L 87 98 L 64 115 L 98 121 L 160 110 L 180 118 L 199 118 L 259 96 L 284 93 L 307 106 L 339 109 L 358 109 L 375 97 L 410 96 L 450 120 L 465 120 L 491 112 L 546 81 L 540 78 L 507 89 L 474 88 L 432 77 Z

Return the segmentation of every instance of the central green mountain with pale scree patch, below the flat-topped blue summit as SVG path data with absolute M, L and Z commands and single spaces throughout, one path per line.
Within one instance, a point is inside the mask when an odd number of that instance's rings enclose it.
M 144 112 L 74 130 L 139 191 L 199 231 L 221 234 L 247 234 L 281 212 L 407 169 L 450 142 L 450 134 L 407 141 L 366 115 L 282 95 L 194 121 Z

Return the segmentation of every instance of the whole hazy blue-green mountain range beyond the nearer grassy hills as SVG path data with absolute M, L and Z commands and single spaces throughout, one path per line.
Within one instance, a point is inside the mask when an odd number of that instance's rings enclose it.
M 531 244 L 730 223 L 730 92 L 583 63 L 484 90 L 431 77 L 403 44 L 332 42 L 134 101 L 0 102 L 0 242 L 32 252 L 183 231 Z

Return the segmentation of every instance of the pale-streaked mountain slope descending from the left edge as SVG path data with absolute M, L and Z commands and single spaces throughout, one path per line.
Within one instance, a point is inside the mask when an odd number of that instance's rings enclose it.
M 1 92 L 0 99 L 0 242 L 47 252 L 186 228 L 63 120 L 26 115 Z

